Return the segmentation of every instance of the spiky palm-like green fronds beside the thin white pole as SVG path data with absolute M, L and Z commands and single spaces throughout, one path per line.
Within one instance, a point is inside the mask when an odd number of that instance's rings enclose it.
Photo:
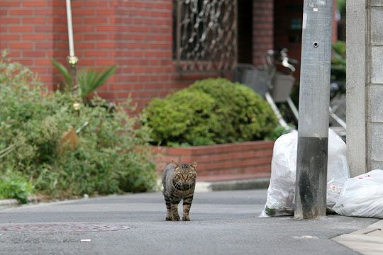
M 77 84 L 74 84 L 72 76 L 66 67 L 55 61 L 53 58 L 51 58 L 50 61 L 57 68 L 60 74 L 62 74 L 66 88 L 72 90 L 78 87 L 79 96 L 81 96 L 83 100 L 85 100 L 87 96 L 94 92 L 99 86 L 103 85 L 105 81 L 109 79 L 114 72 L 116 72 L 117 69 L 116 65 L 101 70 L 80 69 L 76 75 Z

